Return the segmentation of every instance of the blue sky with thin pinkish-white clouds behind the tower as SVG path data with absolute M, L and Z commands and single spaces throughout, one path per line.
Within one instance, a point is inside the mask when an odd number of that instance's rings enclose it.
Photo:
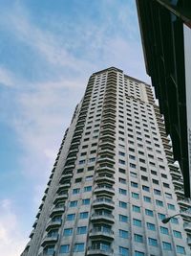
M 0 251 L 20 255 L 92 73 L 150 83 L 135 0 L 0 0 Z

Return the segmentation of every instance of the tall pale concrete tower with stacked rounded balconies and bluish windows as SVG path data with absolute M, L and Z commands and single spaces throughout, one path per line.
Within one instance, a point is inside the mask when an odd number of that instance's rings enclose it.
M 161 221 L 180 206 L 189 202 L 151 87 L 111 67 L 75 108 L 22 256 L 191 255 L 191 215 Z

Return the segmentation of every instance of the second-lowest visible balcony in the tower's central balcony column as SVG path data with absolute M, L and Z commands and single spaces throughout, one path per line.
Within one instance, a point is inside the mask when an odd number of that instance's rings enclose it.
M 113 240 L 114 239 L 114 231 L 109 228 L 101 227 L 95 227 L 90 230 L 89 234 L 90 238 L 94 239 L 107 239 L 107 240 Z

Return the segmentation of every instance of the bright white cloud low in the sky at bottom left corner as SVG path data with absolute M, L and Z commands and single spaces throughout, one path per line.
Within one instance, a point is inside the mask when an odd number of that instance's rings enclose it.
M 0 201 L 0 251 L 4 256 L 20 255 L 27 243 L 12 208 L 10 199 Z

